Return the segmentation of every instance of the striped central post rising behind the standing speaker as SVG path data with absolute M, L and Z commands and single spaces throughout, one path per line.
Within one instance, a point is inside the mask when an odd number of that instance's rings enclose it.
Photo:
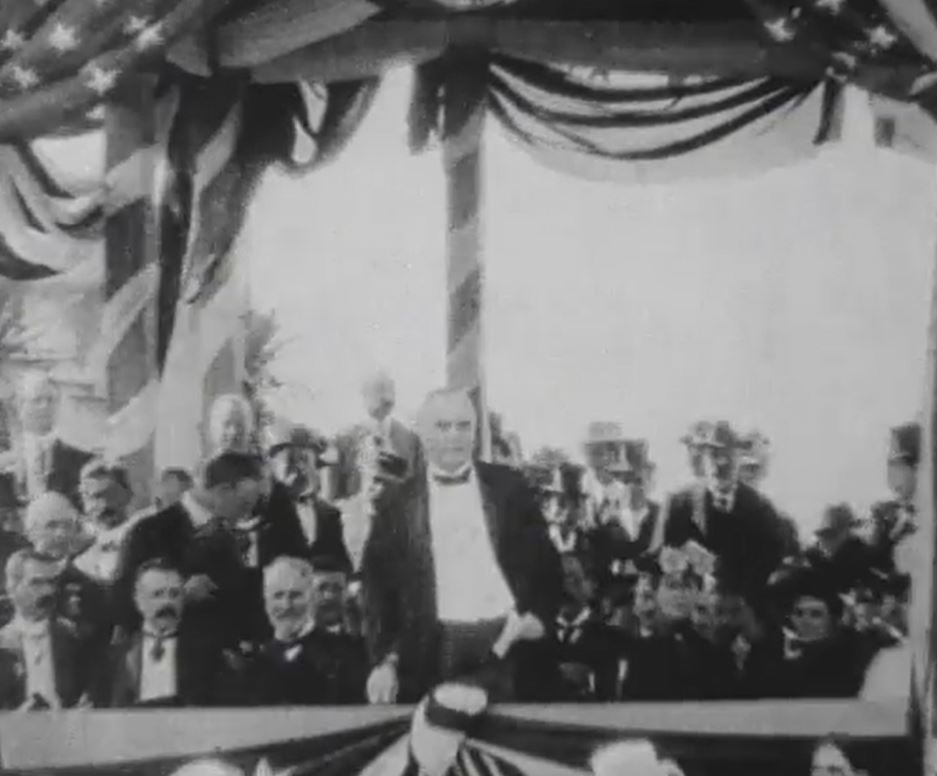
M 478 455 L 491 457 L 484 371 L 484 262 L 481 222 L 488 60 L 452 55 L 443 100 L 443 164 L 448 201 L 446 382 L 465 388 L 479 420 Z

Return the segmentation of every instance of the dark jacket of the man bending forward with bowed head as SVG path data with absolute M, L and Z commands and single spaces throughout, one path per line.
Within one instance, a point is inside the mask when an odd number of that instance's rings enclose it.
M 236 537 L 226 529 L 196 531 L 181 504 L 145 517 L 133 526 L 121 549 L 114 584 L 116 605 L 124 627 L 139 620 L 133 604 L 137 569 L 146 561 L 166 558 L 186 576 L 205 574 L 218 586 L 215 598 L 190 605 L 187 614 L 207 628 L 217 628 L 230 643 L 249 639 L 245 607 L 255 606 L 251 576 L 244 568 Z

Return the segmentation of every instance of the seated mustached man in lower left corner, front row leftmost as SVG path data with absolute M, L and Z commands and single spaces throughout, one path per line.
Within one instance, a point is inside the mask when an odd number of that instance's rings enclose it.
M 6 565 L 16 612 L 0 630 L 0 708 L 39 711 L 83 702 L 88 642 L 55 615 L 58 562 L 19 550 Z

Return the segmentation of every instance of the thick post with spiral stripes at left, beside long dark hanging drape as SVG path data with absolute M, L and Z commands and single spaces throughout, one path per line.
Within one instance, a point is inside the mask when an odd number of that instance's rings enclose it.
M 139 503 L 149 500 L 153 480 L 152 401 L 158 389 L 156 367 L 155 289 L 157 279 L 156 220 L 153 200 L 156 157 L 156 107 L 152 79 L 137 77 L 113 95 L 106 114 L 108 170 L 130 175 L 142 196 L 122 203 L 105 222 L 105 312 L 132 306 L 126 324 L 114 332 L 106 368 L 108 412 L 114 435 L 119 419 L 142 429 L 143 436 L 123 458 Z M 129 301 L 128 301 L 129 300 Z M 105 315 L 102 338 L 110 328 Z M 150 420 L 150 423 L 146 421 Z M 138 429 L 138 431 L 140 430 Z M 136 434 L 140 436 L 139 433 Z

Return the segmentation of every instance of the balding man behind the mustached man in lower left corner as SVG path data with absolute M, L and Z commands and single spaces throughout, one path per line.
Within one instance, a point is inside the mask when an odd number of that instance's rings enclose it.
M 56 615 L 92 644 L 106 644 L 113 627 L 107 592 L 73 560 L 87 546 L 78 510 L 61 493 L 42 493 L 26 509 L 25 532 L 33 549 L 56 566 Z

